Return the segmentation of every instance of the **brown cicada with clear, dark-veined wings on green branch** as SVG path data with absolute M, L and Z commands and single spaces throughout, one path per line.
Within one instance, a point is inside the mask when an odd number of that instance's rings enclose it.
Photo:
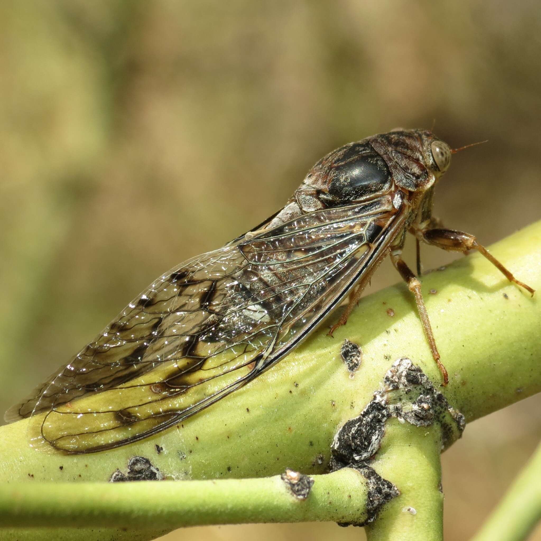
M 382 259 L 415 295 L 443 384 L 447 372 L 406 234 L 445 250 L 477 249 L 533 294 L 476 237 L 432 217 L 451 149 L 427 130 L 394 130 L 332 151 L 259 226 L 155 280 L 22 403 L 39 437 L 69 453 L 103 451 L 166 430 L 274 366 L 346 299 L 346 322 Z

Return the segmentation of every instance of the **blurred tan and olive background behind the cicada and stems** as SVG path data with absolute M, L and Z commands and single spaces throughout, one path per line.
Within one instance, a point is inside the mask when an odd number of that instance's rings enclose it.
M 3 0 L 0 409 L 157 275 L 274 213 L 346 142 L 434 121 L 451 146 L 489 139 L 453 157 L 437 214 L 487 244 L 538 220 L 540 35 L 537 0 Z M 425 268 L 451 259 L 424 249 Z M 384 264 L 372 289 L 395 281 Z M 539 440 L 540 405 L 477 421 L 445 453 L 446 539 L 470 536 L 504 493 Z

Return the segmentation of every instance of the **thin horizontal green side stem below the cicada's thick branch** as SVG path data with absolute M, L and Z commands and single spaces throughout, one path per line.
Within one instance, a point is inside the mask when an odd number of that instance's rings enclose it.
M 255 522 L 362 522 L 366 481 L 355 470 L 314 476 L 306 499 L 279 476 L 208 481 L 138 483 L 16 483 L 0 487 L 4 527 L 56 525 L 167 529 Z M 37 488 L 38 487 L 38 488 Z M 331 494 L 331 495 L 329 495 Z

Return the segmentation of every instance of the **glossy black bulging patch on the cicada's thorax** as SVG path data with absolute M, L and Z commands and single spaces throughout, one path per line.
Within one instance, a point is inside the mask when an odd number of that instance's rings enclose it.
M 375 154 L 334 166 L 329 194 L 339 201 L 355 201 L 389 189 L 391 173 L 385 161 Z

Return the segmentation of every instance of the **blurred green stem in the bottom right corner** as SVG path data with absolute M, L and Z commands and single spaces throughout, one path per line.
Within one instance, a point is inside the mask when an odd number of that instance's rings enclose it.
M 522 541 L 541 520 L 541 445 L 472 541 Z

